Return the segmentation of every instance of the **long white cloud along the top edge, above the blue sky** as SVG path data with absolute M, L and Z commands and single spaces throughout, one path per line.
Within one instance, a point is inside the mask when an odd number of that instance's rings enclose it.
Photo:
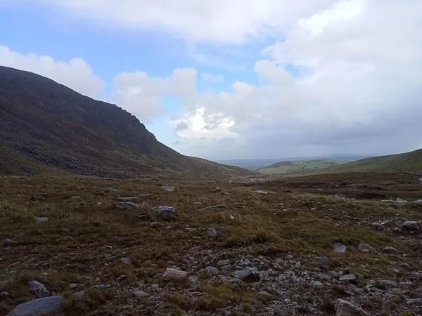
M 244 43 L 285 29 L 335 0 L 32 0 L 102 25 L 169 32 L 195 42 Z

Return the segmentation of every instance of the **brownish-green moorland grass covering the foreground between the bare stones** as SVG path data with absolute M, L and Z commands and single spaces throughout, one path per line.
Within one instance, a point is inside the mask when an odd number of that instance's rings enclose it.
M 120 275 L 129 277 L 129 283 L 122 287 L 135 287 L 140 281 L 146 286 L 159 283 L 167 287 L 160 278 L 167 261 L 174 261 L 183 268 L 186 256 L 193 256 L 203 268 L 203 256 L 198 252 L 203 249 L 215 253 L 224 249 L 231 258 L 245 254 L 265 256 L 271 262 L 293 254 L 295 258 L 301 258 L 303 267 L 309 270 L 316 268 L 309 258 L 329 256 L 331 265 L 328 269 L 348 268 L 361 275 L 359 284 L 362 282 L 362 286 L 366 279 L 385 278 L 389 268 L 397 268 L 397 262 L 418 266 L 417 239 L 412 242 L 406 235 L 397 238 L 394 233 L 380 232 L 372 223 L 391 218 L 422 220 L 421 206 L 395 206 L 373 199 L 339 199 L 326 192 L 331 190 L 331 183 L 345 179 L 359 183 L 353 189 L 356 192 L 366 192 L 365 186 L 380 185 L 381 192 L 394 190 L 399 196 L 422 197 L 421 188 L 415 190 L 407 180 L 402 183 L 401 176 L 376 178 L 376 183 L 371 183 L 373 178 L 359 178 L 353 174 L 321 177 L 308 178 L 308 187 L 301 186 L 302 178 L 252 185 L 228 182 L 198 185 L 191 180 L 160 178 L 0 178 L 0 239 L 17 242 L 4 245 L 6 251 L 0 261 L 0 280 L 14 275 L 13 282 L 0 289 L 8 291 L 13 298 L 1 302 L 0 314 L 32 298 L 27 291 L 27 282 L 31 279 L 39 280 L 58 293 L 69 291 L 68 284 L 72 282 L 87 289 L 96 284 L 116 282 Z M 160 188 L 162 185 L 175 185 L 177 192 L 164 192 Z M 212 192 L 216 185 L 229 195 Z M 107 193 L 107 187 L 115 187 L 119 192 Z M 252 192 L 255 188 L 270 194 L 257 195 Z M 118 197 L 139 197 L 141 193 L 148 193 L 149 197 L 141 198 L 139 209 L 115 209 Z M 70 199 L 74 195 L 82 199 Z M 201 204 L 196 204 L 198 202 Z M 198 212 L 203 206 L 215 204 L 226 204 L 232 211 Z M 155 217 L 151 208 L 159 205 L 174 206 L 179 218 L 166 221 Z M 148 220 L 139 217 L 144 214 L 148 215 Z M 46 216 L 49 222 L 38 224 L 34 220 L 37 216 Z M 149 223 L 155 220 L 160 226 L 151 228 Z M 386 224 L 386 227 L 398 224 Z M 219 232 L 216 239 L 207 236 L 207 228 L 211 227 Z M 186 228 L 196 228 L 196 232 L 186 232 Z M 333 242 L 346 244 L 346 253 L 335 254 Z M 378 251 L 384 246 L 394 246 L 410 256 L 365 254 L 357 250 L 362 242 Z M 106 258 L 110 256 L 115 260 L 108 261 Z M 120 262 L 122 257 L 131 258 L 133 264 L 124 265 Z M 378 259 L 376 263 L 374 258 Z M 281 266 L 281 270 L 288 268 L 288 265 Z M 174 287 L 177 293 L 163 296 L 167 304 L 165 310 L 184 315 L 191 305 L 183 293 L 191 285 L 182 282 L 168 284 L 168 287 Z M 200 275 L 198 292 L 201 295 L 192 306 L 198 311 L 210 312 L 226 307 L 231 301 L 239 305 L 240 312 L 253 315 L 251 301 L 256 293 L 245 284 L 240 284 L 240 289 L 235 291 L 229 283 L 215 282 L 211 276 Z M 333 297 L 345 296 L 341 286 L 329 290 Z M 313 297 L 322 297 L 319 290 L 303 291 L 312 292 L 312 301 Z M 91 311 L 115 315 L 116 308 L 127 305 L 126 301 L 127 297 L 115 295 L 113 290 L 107 293 L 94 291 L 82 302 L 68 296 L 63 315 L 75 315 L 73 311 L 81 315 L 89 315 Z M 151 301 L 142 301 L 132 315 L 153 315 L 154 307 L 150 304 Z M 378 303 L 373 305 L 379 310 Z M 332 301 L 324 301 L 321 310 L 331 315 Z M 131 314 L 128 312 L 128 315 Z

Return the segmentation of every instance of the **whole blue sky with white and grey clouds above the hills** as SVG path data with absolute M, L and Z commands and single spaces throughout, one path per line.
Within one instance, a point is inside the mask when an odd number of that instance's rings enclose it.
M 421 0 L 0 0 L 0 65 L 206 159 L 422 147 Z

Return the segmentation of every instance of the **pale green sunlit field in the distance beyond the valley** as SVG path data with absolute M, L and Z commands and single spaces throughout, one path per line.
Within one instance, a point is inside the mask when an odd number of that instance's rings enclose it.
M 316 160 L 300 160 L 300 161 L 289 161 L 289 162 L 277 162 L 266 166 L 257 171 L 265 174 L 281 174 L 289 172 L 307 171 L 314 169 L 323 169 L 331 166 L 338 166 L 345 164 L 347 161 L 344 160 L 331 160 L 331 159 L 316 159 Z

